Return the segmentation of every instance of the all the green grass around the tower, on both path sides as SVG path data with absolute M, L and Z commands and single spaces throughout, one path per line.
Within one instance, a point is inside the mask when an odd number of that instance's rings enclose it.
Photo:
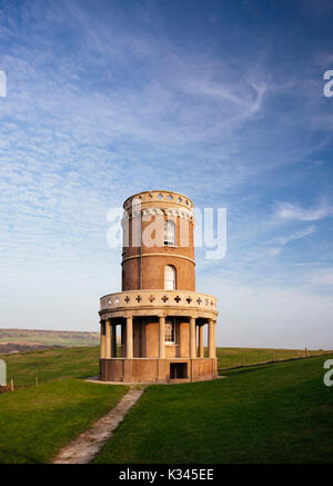
M 233 369 L 214 381 L 150 386 L 94 462 L 332 463 L 333 387 L 323 385 L 329 358 L 333 355 Z M 46 383 L 0 395 L 0 464 L 51 462 L 127 390 L 60 379 L 94 374 L 98 348 L 6 359 L 21 383 L 31 378 L 31 385 L 38 370 Z

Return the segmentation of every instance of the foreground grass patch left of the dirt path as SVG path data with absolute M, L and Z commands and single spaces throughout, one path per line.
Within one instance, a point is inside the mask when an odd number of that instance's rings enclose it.
M 51 462 L 127 390 L 64 379 L 0 395 L 0 464 Z

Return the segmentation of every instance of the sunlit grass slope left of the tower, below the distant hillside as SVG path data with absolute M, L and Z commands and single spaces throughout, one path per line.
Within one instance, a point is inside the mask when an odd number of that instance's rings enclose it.
M 85 378 L 99 374 L 99 347 L 50 348 L 16 355 L 2 355 L 7 378 L 14 385 L 34 385 L 61 377 Z

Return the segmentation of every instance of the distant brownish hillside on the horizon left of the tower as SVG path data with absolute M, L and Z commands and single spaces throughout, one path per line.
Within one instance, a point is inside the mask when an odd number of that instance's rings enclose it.
M 98 346 L 98 333 L 0 329 L 0 354 L 46 347 Z

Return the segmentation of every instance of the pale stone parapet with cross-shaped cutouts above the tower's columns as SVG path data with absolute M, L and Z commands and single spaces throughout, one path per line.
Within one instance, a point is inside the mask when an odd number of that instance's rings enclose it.
M 100 310 L 130 310 L 179 307 L 216 313 L 216 299 L 208 294 L 185 290 L 130 290 L 101 297 Z

